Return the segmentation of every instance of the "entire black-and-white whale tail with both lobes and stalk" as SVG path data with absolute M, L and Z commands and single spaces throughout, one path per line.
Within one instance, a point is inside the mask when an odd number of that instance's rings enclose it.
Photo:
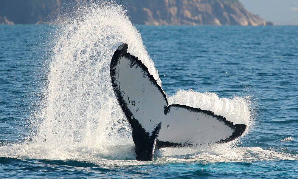
M 241 136 L 233 124 L 212 111 L 170 104 L 148 68 L 122 44 L 110 65 L 116 98 L 132 127 L 136 160 L 152 161 L 154 149 L 225 143 Z

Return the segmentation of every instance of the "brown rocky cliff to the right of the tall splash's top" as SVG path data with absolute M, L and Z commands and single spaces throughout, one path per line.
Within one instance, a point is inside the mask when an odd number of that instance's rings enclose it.
M 132 20 L 153 25 L 266 25 L 238 0 L 150 0 L 132 1 Z

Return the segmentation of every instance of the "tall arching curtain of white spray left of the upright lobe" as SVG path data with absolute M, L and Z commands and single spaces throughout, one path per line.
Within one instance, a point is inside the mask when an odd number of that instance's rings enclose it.
M 111 57 L 124 42 L 159 79 L 141 35 L 121 7 L 99 5 L 65 27 L 53 48 L 45 107 L 38 116 L 42 123 L 34 143 L 56 147 L 132 143 L 109 75 Z

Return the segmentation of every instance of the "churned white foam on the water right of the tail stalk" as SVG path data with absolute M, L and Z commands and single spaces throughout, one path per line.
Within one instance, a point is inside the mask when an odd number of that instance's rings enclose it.
M 254 162 L 254 161 L 277 161 L 277 160 L 297 160 L 294 151 L 284 153 L 282 151 L 265 150 L 261 147 L 235 147 L 228 145 L 217 145 L 209 149 L 189 148 L 187 151 L 181 149 L 161 149 L 157 152 L 160 162 Z M 177 155 L 181 154 L 181 155 Z

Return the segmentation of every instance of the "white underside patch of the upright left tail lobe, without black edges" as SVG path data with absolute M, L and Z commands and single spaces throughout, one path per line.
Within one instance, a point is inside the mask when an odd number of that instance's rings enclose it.
M 127 108 L 142 127 L 151 133 L 164 119 L 164 106 L 167 106 L 167 101 L 148 76 L 144 75 L 141 67 L 131 68 L 130 65 L 131 61 L 126 57 L 120 58 L 116 83 L 119 84 L 123 100 L 127 101 Z

